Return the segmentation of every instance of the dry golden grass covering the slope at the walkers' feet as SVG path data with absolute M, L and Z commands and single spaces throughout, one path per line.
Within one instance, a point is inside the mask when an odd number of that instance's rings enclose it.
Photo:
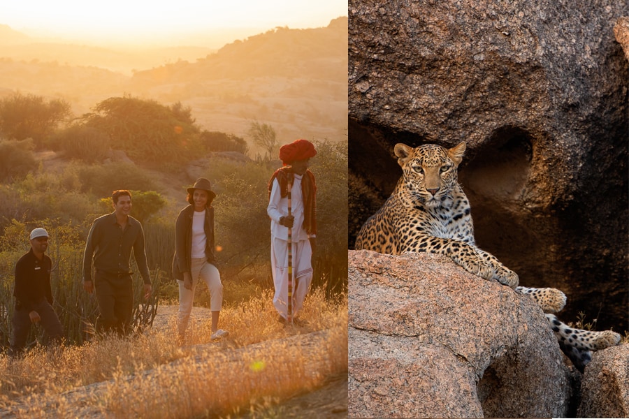
M 266 291 L 224 307 L 220 327 L 229 338 L 210 343 L 209 318 L 193 321 L 184 348 L 171 312 L 133 339 L 1 356 L 0 408 L 29 418 L 224 416 L 312 390 L 347 370 L 347 299 L 330 304 L 313 291 L 299 314 L 308 323 L 284 328 Z

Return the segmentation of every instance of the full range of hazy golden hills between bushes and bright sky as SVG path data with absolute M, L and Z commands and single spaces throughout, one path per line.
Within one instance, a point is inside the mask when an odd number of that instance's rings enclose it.
M 347 140 L 347 17 L 324 28 L 273 29 L 217 52 L 0 43 L 0 98 L 15 91 L 64 98 L 75 115 L 131 94 L 180 101 L 208 131 L 247 138 L 256 120 L 272 125 L 281 143 Z

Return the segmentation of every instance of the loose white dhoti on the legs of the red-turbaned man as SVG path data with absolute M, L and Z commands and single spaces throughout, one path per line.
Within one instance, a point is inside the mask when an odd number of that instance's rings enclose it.
M 310 283 L 312 282 L 312 248 L 310 241 L 300 240 L 292 243 L 291 253 L 293 270 L 293 302 L 292 316 L 303 307 Z M 271 267 L 273 269 L 273 306 L 280 316 L 287 318 L 288 312 L 288 242 L 286 240 L 272 237 L 271 240 Z

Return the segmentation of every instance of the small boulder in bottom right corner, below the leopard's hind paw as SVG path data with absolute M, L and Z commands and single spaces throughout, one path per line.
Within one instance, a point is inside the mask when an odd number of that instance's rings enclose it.
M 581 381 L 578 418 L 629 418 L 629 344 L 594 354 Z

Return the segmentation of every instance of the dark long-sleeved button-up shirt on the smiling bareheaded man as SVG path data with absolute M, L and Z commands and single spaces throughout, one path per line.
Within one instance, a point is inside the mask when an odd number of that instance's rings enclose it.
M 115 212 L 95 219 L 85 243 L 83 280 L 92 281 L 92 261 L 96 270 L 110 274 L 131 274 L 131 250 L 144 283 L 150 284 L 144 230 L 140 221 L 129 216 L 123 231 L 116 222 Z

